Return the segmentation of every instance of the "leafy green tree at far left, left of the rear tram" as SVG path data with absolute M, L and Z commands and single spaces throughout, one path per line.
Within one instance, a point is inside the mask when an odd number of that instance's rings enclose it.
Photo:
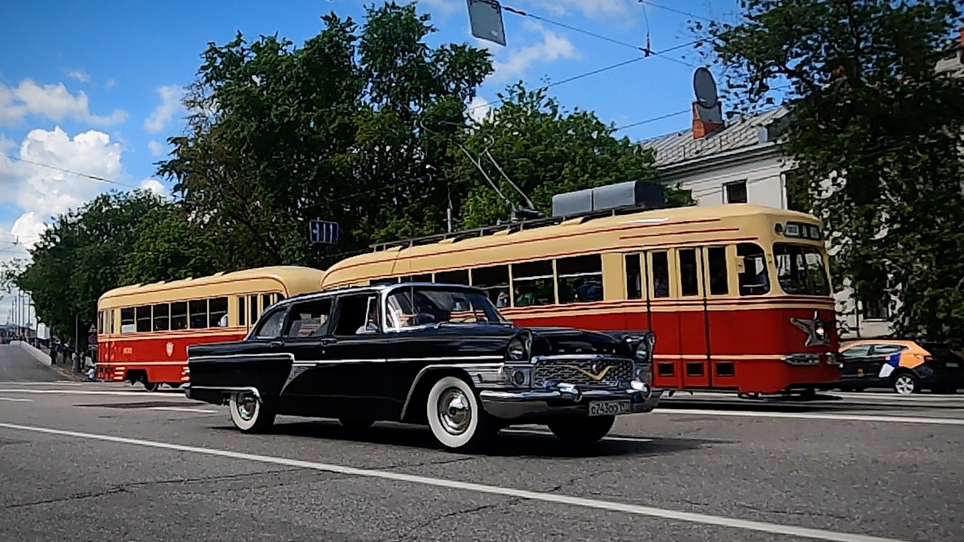
M 13 284 L 30 292 L 37 316 L 59 339 L 86 343 L 97 299 L 120 285 L 140 222 L 165 204 L 146 191 L 115 192 L 60 215 L 40 234 L 30 262 L 14 270 Z

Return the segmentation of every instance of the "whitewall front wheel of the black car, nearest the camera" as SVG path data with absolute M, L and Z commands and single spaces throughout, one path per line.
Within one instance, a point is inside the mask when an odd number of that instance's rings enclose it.
M 495 432 L 495 425 L 482 410 L 475 391 L 461 378 L 440 378 L 429 391 L 425 407 L 432 435 L 448 449 L 476 450 Z

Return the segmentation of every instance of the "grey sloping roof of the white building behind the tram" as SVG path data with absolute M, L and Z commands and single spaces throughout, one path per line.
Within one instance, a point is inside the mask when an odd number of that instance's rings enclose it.
M 656 168 L 741 149 L 772 147 L 784 124 L 779 121 L 783 121 L 787 113 L 787 108 L 775 107 L 758 115 L 738 117 L 700 139 L 693 139 L 690 128 L 642 141 L 639 145 L 656 150 Z

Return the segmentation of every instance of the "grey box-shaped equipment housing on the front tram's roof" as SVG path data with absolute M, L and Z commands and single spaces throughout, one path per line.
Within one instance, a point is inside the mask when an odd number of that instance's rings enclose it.
M 552 196 L 552 216 L 573 216 L 619 208 L 657 208 L 665 205 L 662 186 L 630 180 Z

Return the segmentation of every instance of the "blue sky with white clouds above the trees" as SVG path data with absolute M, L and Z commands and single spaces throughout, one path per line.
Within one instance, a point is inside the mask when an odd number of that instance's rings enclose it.
M 381 2 L 379 2 L 381 3 Z M 160 192 L 155 163 L 165 140 L 181 132 L 178 96 L 201 64 L 209 41 L 241 31 L 254 39 L 278 33 L 296 43 L 321 29 L 334 11 L 362 19 L 357 0 L 286 2 L 169 0 L 147 2 L 7 3 L 0 18 L 0 260 L 25 255 L 50 217 L 82 204 L 112 185 L 23 160 L 144 186 Z M 503 6 L 645 45 L 653 50 L 692 41 L 688 16 L 733 20 L 736 0 L 511 0 Z M 488 46 L 496 71 L 481 90 L 492 100 L 508 83 L 560 81 L 639 56 L 625 46 L 503 13 L 505 47 L 473 39 L 466 0 L 420 0 L 438 32 L 431 42 Z M 691 47 L 670 56 L 693 65 Z M 620 132 L 639 140 L 684 129 L 693 99 L 693 67 L 651 57 L 550 89 L 569 109 L 596 111 L 624 125 L 678 112 Z M 16 160 L 10 158 L 21 158 Z M 114 188 L 125 189 L 115 185 Z M 21 244 L 14 245 L 19 238 Z M 0 301 L 0 321 L 6 318 Z

